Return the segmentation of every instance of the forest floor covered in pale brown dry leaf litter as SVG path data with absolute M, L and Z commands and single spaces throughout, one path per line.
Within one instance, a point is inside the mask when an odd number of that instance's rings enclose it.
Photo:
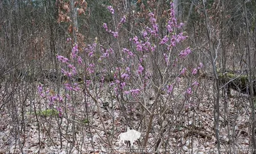
M 214 101 L 210 83 L 211 81 L 202 81 L 202 86 L 198 90 L 200 97 L 196 99 L 198 101 L 196 107 L 184 109 L 179 117 L 179 120 L 183 120 L 179 122 L 179 128 L 170 129 L 170 136 L 163 137 L 168 139 L 166 148 L 168 153 L 217 152 L 214 135 Z M 77 97 L 77 101 L 83 102 L 83 97 Z M 125 132 L 124 122 L 119 116 L 122 115 L 122 111 L 118 108 L 114 113 L 101 106 L 100 114 L 97 113 L 96 108 L 91 109 L 90 122 L 92 123 L 88 127 L 88 123 L 83 121 L 83 117 L 86 117 L 86 108 L 83 103 L 79 104 L 76 114 L 72 114 L 71 110 L 66 111 L 67 115 L 76 116 L 75 121 L 72 121 L 72 116 L 63 115 L 59 118 L 58 114 L 45 116 L 35 112 L 35 109 L 43 111 L 42 106 L 46 106 L 44 101 L 26 101 L 23 104 L 12 102 L 1 109 L 0 153 L 93 153 L 93 151 L 103 153 L 106 150 L 107 139 L 99 115 L 104 120 L 106 130 L 115 129 L 115 134 L 111 134 L 113 146 L 119 146 L 118 135 Z M 25 111 L 21 111 L 22 108 Z M 248 96 L 232 90 L 232 97 L 226 99 L 221 97 L 220 113 L 221 151 L 223 153 L 250 153 Z M 114 122 L 113 117 L 116 118 Z M 139 122 L 137 116 L 134 116 L 133 120 Z M 75 128 L 72 127 L 74 123 L 76 123 Z M 73 132 L 73 129 L 76 131 Z M 141 134 L 141 139 L 142 137 L 143 134 Z M 72 147 L 73 142 L 74 147 Z M 150 134 L 148 151 L 154 150 L 152 147 L 155 144 L 153 143 L 154 136 Z

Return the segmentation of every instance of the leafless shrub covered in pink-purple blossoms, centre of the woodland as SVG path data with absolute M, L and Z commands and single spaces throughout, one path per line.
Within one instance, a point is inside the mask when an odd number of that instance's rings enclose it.
M 114 8 L 107 6 L 106 9 L 115 21 Z M 114 43 L 100 44 L 100 41 L 95 39 L 81 50 L 79 50 L 81 46 L 72 45 L 69 59 L 57 55 L 56 59 L 61 64 L 61 73 L 67 78 L 63 83 L 65 94 L 60 96 L 47 93 L 47 90 L 44 92 L 44 88 L 40 85 L 38 92 L 41 97 L 47 98 L 51 106 L 61 113 L 61 117 L 65 115 L 64 108 L 67 108 L 61 102 L 64 99 L 70 100 L 72 95 L 79 93 L 86 97 L 86 101 L 95 104 L 102 104 L 110 99 L 119 108 L 128 108 L 128 106 L 132 108 L 127 111 L 130 112 L 129 114 L 124 113 L 124 115 L 132 115 L 132 111 L 138 109 L 146 119 L 148 116 L 154 119 L 155 113 L 163 112 L 163 108 L 159 106 L 172 108 L 172 100 L 182 102 L 183 99 L 184 102 L 191 102 L 197 88 L 200 87 L 196 76 L 193 75 L 202 69 L 203 64 L 189 66 L 193 67 L 192 70 L 184 65 L 187 57 L 193 52 L 190 47 L 180 46 L 182 41 L 188 38 L 181 29 L 184 24 L 177 22 L 172 3 L 170 18 L 163 29 L 159 29 L 159 21 L 153 11 L 149 12 L 147 17 L 148 24 L 138 27 L 139 32 L 131 33 L 131 38 L 127 38 L 125 44 L 120 41 L 124 38 L 121 29 L 128 20 L 124 15 L 116 20 L 118 21 L 116 27 L 102 24 L 102 29 L 111 40 L 115 40 Z M 72 39 L 68 39 L 68 43 L 71 41 Z M 192 74 L 192 77 L 187 80 L 186 74 Z M 81 83 L 78 83 L 76 78 L 80 78 Z M 185 87 L 179 88 L 180 85 Z M 149 104 L 152 97 L 154 102 Z M 72 109 L 76 109 L 76 106 L 72 106 Z M 124 111 L 126 110 L 123 109 L 122 112 Z M 156 119 L 153 121 L 156 122 Z M 151 129 L 152 125 L 143 127 Z

